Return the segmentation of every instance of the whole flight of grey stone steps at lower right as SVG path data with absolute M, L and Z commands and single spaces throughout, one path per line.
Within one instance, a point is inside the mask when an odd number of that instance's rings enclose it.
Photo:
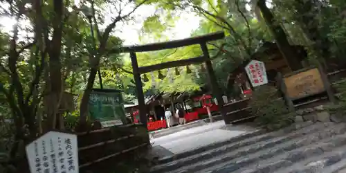
M 343 173 L 345 132 L 345 123 L 309 121 L 273 132 L 257 130 L 163 158 L 151 172 Z

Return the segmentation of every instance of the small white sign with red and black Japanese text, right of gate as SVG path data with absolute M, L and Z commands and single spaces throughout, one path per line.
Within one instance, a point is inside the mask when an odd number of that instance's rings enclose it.
M 248 74 L 248 78 L 253 87 L 268 84 L 264 62 L 251 60 L 251 62 L 245 67 L 245 71 Z

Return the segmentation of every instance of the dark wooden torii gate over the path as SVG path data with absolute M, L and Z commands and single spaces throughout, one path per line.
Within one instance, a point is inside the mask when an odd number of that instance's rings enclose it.
M 122 53 L 130 53 L 132 69 L 134 73 L 134 81 L 136 84 L 137 90 L 137 98 L 138 98 L 138 109 L 139 109 L 139 117 L 140 122 L 143 125 L 147 125 L 147 116 L 145 115 L 145 100 L 143 93 L 142 80 L 140 79 L 140 74 L 148 73 L 151 71 L 158 71 L 161 69 L 168 69 L 172 67 L 178 66 L 187 66 L 190 64 L 201 64 L 206 63 L 206 69 L 209 77 L 209 84 L 212 88 L 212 94 L 217 98 L 217 102 L 219 103 L 219 109 L 221 112 L 221 116 L 223 116 L 224 120 L 226 119 L 226 113 L 224 112 L 224 100 L 222 99 L 222 95 L 220 94 L 220 88 L 217 84 L 217 79 L 215 77 L 214 70 L 212 69 L 212 62 L 210 60 L 210 56 L 208 53 L 208 48 L 206 43 L 210 41 L 215 41 L 217 39 L 223 39 L 225 37 L 224 32 L 217 32 L 208 35 L 202 35 L 199 37 L 191 37 L 188 39 L 179 39 L 170 42 L 161 42 L 154 44 L 145 44 L 140 46 L 128 46 L 122 48 Z M 138 66 L 136 52 L 148 52 L 148 51 L 160 51 L 163 49 L 169 48 L 179 48 L 183 46 L 190 46 L 194 44 L 199 44 L 201 46 L 201 50 L 203 55 L 199 57 L 190 58 L 187 60 L 176 60 L 172 62 L 163 62 L 161 64 L 154 64 L 150 66 Z

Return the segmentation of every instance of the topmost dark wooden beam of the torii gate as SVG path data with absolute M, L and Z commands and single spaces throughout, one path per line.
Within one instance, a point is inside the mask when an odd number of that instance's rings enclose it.
M 201 35 L 197 37 L 190 37 L 187 39 L 178 39 L 169 42 L 161 42 L 154 44 L 145 44 L 140 46 L 125 46 L 122 47 L 122 53 L 129 52 L 148 52 L 148 51 L 159 51 L 169 48 L 179 48 L 183 46 L 190 46 L 193 44 L 201 44 L 202 42 L 210 42 L 217 39 L 223 39 L 225 37 L 224 31 L 219 31 L 217 33 L 211 33 L 208 35 Z

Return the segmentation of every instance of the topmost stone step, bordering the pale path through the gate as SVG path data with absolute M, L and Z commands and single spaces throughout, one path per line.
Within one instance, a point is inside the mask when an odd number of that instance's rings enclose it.
M 257 145 L 257 147 L 253 148 L 253 147 L 248 147 L 246 150 L 247 152 L 255 152 L 256 149 L 260 149 L 261 147 L 271 147 L 272 145 L 275 145 L 277 143 L 283 143 L 286 140 L 289 140 L 289 138 L 294 138 L 294 136 L 301 136 L 303 134 L 306 134 L 308 132 L 311 131 L 317 131 L 318 129 L 324 128 L 325 126 L 328 125 L 334 125 L 334 123 L 329 122 L 329 123 L 318 123 L 315 125 L 312 125 L 312 122 L 304 122 L 301 124 L 297 124 L 297 125 L 292 125 L 291 127 L 286 127 L 284 129 L 281 129 L 279 131 L 273 131 L 271 133 L 266 133 L 266 134 L 262 134 L 262 135 L 257 135 L 257 136 L 248 136 L 248 138 L 241 140 L 242 138 L 234 138 L 234 139 L 239 139 L 238 141 L 230 140 L 228 141 L 228 143 L 224 143 L 224 145 L 221 145 L 219 147 L 214 147 L 214 149 L 210 149 L 207 150 L 205 149 L 204 151 L 206 152 L 200 152 L 200 153 L 196 153 L 193 154 L 192 156 L 187 156 L 184 158 L 180 158 L 177 159 L 176 161 L 172 161 L 170 163 L 165 163 L 165 164 L 161 164 L 161 165 L 157 165 L 155 167 L 152 167 L 152 173 L 154 172 L 166 172 L 166 171 L 170 171 L 170 170 L 174 170 L 176 169 L 176 167 L 183 167 L 185 165 L 191 165 L 193 163 L 197 163 L 198 161 L 205 161 L 208 160 L 212 157 L 215 156 L 219 156 L 221 154 L 224 154 L 226 152 L 230 152 L 233 150 L 236 150 L 242 147 L 246 147 L 248 145 L 253 145 L 262 141 L 266 141 L 268 140 L 268 142 L 266 142 L 266 145 Z M 295 131 L 296 130 L 296 131 Z M 294 133 L 292 133 L 290 136 L 285 136 L 282 137 L 284 134 L 288 134 L 291 131 L 295 131 Z M 278 138 L 277 138 L 278 137 Z M 289 137 L 289 138 L 287 138 Z M 274 141 L 271 141 L 269 139 L 272 138 L 277 138 Z M 242 152 L 242 150 L 240 151 L 241 153 L 239 153 L 239 155 L 243 154 L 244 152 Z

